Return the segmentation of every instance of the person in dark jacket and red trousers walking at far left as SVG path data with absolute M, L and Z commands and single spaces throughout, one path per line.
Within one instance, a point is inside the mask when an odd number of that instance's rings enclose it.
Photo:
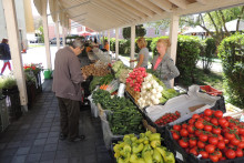
M 9 62 L 11 60 L 11 54 L 10 54 L 8 39 L 2 39 L 2 42 L 0 43 L 0 53 L 1 53 L 1 60 L 3 60 L 3 67 L 0 73 L 0 75 L 2 75 L 7 65 L 9 67 L 10 71 L 12 70 L 11 64 Z

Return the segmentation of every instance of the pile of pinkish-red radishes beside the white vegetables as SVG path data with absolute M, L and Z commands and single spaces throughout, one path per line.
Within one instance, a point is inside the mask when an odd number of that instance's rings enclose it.
M 140 92 L 142 88 L 142 82 L 144 78 L 148 75 L 145 68 L 136 68 L 126 78 L 126 83 L 130 84 L 131 88 L 134 89 L 135 92 Z

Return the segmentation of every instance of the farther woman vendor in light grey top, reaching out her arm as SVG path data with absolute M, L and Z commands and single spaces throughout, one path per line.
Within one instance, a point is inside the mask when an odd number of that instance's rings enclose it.
M 135 68 L 143 67 L 148 69 L 148 62 L 149 62 L 149 49 L 146 48 L 148 42 L 145 41 L 144 38 L 140 38 L 138 41 L 138 47 L 140 49 L 139 55 L 136 60 L 130 60 L 130 62 L 135 62 L 138 61 L 138 64 Z

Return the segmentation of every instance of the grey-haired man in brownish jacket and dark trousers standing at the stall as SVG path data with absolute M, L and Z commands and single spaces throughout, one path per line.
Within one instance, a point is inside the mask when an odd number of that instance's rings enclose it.
M 84 49 L 81 39 L 75 39 L 70 47 L 60 49 L 55 54 L 52 90 L 59 101 L 60 109 L 60 140 L 68 137 L 71 142 L 84 140 L 79 135 L 79 115 L 81 101 L 81 82 L 85 75 L 81 73 L 81 65 L 77 55 Z

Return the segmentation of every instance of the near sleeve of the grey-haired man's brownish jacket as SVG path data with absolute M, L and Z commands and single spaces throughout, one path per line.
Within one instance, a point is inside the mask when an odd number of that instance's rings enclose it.
M 73 83 L 83 82 L 83 78 L 81 74 L 81 65 L 77 57 L 72 57 L 69 60 L 69 70 L 70 70 L 70 78 Z

